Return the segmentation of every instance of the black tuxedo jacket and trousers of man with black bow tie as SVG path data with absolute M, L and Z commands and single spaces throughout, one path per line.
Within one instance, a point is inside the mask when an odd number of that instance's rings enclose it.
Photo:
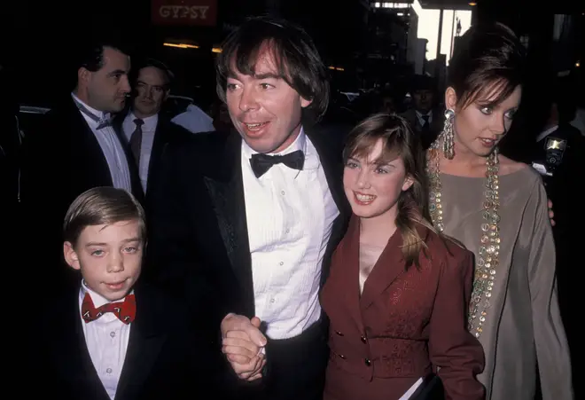
M 323 284 L 350 216 L 342 187 L 345 132 L 305 132 L 316 147 L 339 208 L 324 255 Z M 246 221 L 241 144 L 238 133 L 209 132 L 166 147 L 157 177 L 160 190 L 152 200 L 143 275 L 183 294 L 193 318 L 205 320 L 207 334 L 218 338 L 216 357 L 230 371 L 219 346 L 222 318 L 229 312 L 255 315 L 248 242 L 248 224 L 253 222 Z M 155 268 L 163 261 L 164 269 Z M 232 374 L 225 393 L 238 399 L 320 398 L 327 361 L 326 327 L 324 322 L 297 338 L 269 341 L 262 379 L 249 384 Z

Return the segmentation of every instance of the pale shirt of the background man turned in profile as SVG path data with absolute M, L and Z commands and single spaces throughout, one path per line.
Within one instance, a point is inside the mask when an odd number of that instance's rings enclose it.
M 83 103 L 82 100 L 74 95 L 74 93 L 71 93 L 71 96 L 75 101 L 87 108 L 91 114 L 98 117 L 99 120 L 109 117 L 109 114 L 98 111 Z M 105 161 L 107 161 L 107 165 L 110 169 L 113 187 L 124 189 L 131 193 L 132 180 L 130 179 L 128 160 L 126 159 L 126 153 L 124 152 L 124 147 L 121 145 L 120 138 L 116 135 L 116 131 L 111 125 L 98 129 L 98 122 L 91 119 L 89 115 L 82 113 L 82 111 L 80 111 L 80 114 L 82 114 L 83 119 L 90 126 L 96 139 L 98 139 L 99 147 L 101 147 L 102 153 L 104 153 L 105 156 Z

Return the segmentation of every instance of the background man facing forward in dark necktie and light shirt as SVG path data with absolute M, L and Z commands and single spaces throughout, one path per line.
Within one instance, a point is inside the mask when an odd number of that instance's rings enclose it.
M 152 181 L 156 174 L 151 172 L 159 168 L 165 145 L 191 135 L 188 130 L 172 123 L 167 114 L 160 112 L 168 99 L 172 79 L 173 74 L 165 64 L 156 59 L 144 60 L 136 67 L 129 112 L 121 114 L 115 122 L 120 124 L 119 129 L 129 145 L 131 161 L 138 170 L 144 193 L 155 190 L 156 184 Z

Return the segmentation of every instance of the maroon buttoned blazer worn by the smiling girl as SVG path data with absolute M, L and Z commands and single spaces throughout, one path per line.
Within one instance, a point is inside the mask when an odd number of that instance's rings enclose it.
M 325 399 L 398 399 L 439 369 L 447 399 L 482 399 L 480 342 L 467 330 L 472 253 L 423 225 L 426 258 L 405 271 L 396 231 L 359 288 L 359 219 L 331 260 L 321 304 L 331 320 Z

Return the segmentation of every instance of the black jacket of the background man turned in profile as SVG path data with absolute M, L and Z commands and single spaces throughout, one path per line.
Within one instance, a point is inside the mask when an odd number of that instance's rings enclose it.
M 123 145 L 124 142 L 122 142 Z M 127 159 L 129 158 L 129 151 Z M 62 284 L 68 273 L 63 267 L 48 271 L 45 266 L 62 261 L 61 229 L 66 210 L 82 192 L 97 186 L 112 186 L 112 176 L 99 146 L 72 98 L 64 99 L 46 115 L 42 124 L 27 132 L 23 141 L 20 198 L 28 231 L 43 238 L 29 264 L 40 267 L 39 281 Z M 143 201 L 137 170 L 129 159 L 132 192 Z M 25 230 L 25 231 L 27 231 Z M 37 260 L 35 256 L 40 258 Z M 43 267 L 41 267 L 43 266 Z M 51 285 L 46 284 L 46 287 Z

